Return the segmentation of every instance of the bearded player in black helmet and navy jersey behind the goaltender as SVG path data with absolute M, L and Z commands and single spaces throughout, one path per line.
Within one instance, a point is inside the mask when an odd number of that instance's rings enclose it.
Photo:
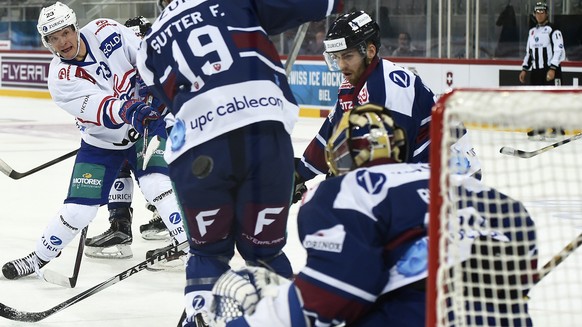
M 428 162 L 430 116 L 435 95 L 419 76 L 380 57 L 380 27 L 374 19 L 364 11 L 338 17 L 327 32 L 324 45 L 328 68 L 341 71 L 344 81 L 333 111 L 303 152 L 303 157 L 296 160 L 293 202 L 300 199 L 305 181 L 329 172 L 324 158 L 325 144 L 334 125 L 357 105 L 377 103 L 390 108 L 396 123 L 406 131 L 410 145 L 403 160 Z M 469 173 L 480 169 L 470 142 L 463 140 L 456 149 L 470 161 Z

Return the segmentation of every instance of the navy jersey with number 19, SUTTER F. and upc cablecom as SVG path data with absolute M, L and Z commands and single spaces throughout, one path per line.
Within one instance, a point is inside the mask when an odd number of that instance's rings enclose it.
M 175 116 L 166 160 L 260 121 L 291 133 L 299 107 L 269 35 L 341 9 L 341 0 L 173 1 L 152 25 L 138 70 Z

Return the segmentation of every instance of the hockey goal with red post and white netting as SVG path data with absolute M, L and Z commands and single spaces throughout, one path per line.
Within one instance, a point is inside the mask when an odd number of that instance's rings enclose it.
M 451 145 L 460 123 L 483 183 L 520 201 L 533 227 L 512 223 L 524 212 L 502 197 L 456 192 Z M 427 326 L 582 326 L 582 89 L 457 89 L 439 99 L 431 124 Z M 528 137 L 532 129 L 546 133 Z M 517 240 L 481 237 L 478 230 L 499 226 L 467 215 L 463 203 L 510 222 L 504 232 L 516 239 L 534 233 L 537 254 Z M 479 240 L 472 261 L 463 259 L 468 238 Z M 519 259 L 526 255 L 537 256 L 537 267 Z

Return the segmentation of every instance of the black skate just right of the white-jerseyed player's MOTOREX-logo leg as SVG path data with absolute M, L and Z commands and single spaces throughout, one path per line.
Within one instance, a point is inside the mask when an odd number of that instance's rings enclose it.
M 131 208 L 110 210 L 108 230 L 85 240 L 85 255 L 91 258 L 129 259 L 131 251 Z

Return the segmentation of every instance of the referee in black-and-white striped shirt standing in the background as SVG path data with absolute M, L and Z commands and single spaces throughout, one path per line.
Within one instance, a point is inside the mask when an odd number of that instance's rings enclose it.
M 519 81 L 525 84 L 528 71 L 531 85 L 561 85 L 561 63 L 566 58 L 562 32 L 549 21 L 548 5 L 538 2 L 534 7 L 537 25 L 529 30 L 526 53 L 523 58 Z M 531 140 L 553 139 L 564 130 L 560 127 L 531 130 L 527 133 Z

